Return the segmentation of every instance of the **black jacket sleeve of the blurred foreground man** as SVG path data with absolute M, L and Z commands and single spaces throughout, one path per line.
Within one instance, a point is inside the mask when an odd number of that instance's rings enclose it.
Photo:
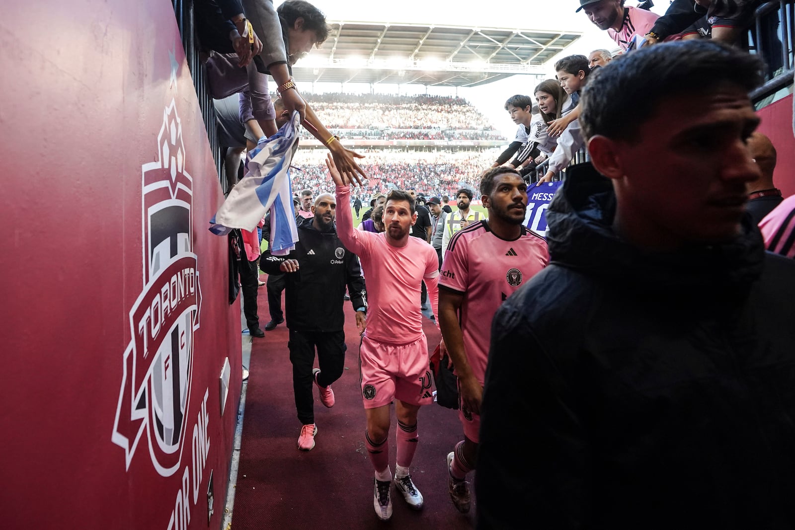
M 491 327 L 477 528 L 582 528 L 590 512 L 584 427 L 572 389 L 524 313 L 503 305 Z M 522 458 L 506 451 L 509 439 L 522 440 Z

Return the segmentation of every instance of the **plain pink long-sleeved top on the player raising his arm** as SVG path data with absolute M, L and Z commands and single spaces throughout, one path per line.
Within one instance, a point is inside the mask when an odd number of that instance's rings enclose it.
M 337 204 L 350 204 L 350 188 L 336 188 Z M 409 236 L 406 246 L 395 248 L 386 233 L 375 234 L 353 227 L 351 209 L 337 209 L 337 235 L 362 261 L 367 287 L 365 335 L 378 342 L 407 344 L 423 335 L 420 311 L 421 280 L 428 288 L 433 314 L 437 315 L 439 258 L 420 238 Z

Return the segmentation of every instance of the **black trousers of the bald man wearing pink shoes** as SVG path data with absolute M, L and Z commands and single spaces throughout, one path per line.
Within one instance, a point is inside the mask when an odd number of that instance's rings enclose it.
M 290 362 L 293 363 L 293 393 L 301 425 L 315 423 L 315 397 L 312 394 L 312 367 L 315 364 L 315 348 L 320 374 L 317 382 L 321 386 L 331 385 L 343 374 L 345 365 L 344 331 L 293 331 L 287 346 Z

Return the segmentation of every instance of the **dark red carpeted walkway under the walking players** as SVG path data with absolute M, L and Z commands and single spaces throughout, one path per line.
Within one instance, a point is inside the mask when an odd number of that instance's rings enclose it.
M 265 288 L 259 292 L 259 315 L 264 326 L 268 303 Z M 332 385 L 336 397 L 333 408 L 320 404 L 315 392 L 318 433 L 312 451 L 298 451 L 296 447 L 301 424 L 293 402 L 285 324 L 267 331 L 264 339 L 254 339 L 232 528 L 474 528 L 474 503 L 471 512 L 463 515 L 448 496 L 445 458 L 463 436 L 458 412 L 435 403 L 420 410 L 420 445 L 411 470 L 425 497 L 425 508 L 420 512 L 409 509 L 393 488 L 392 520 L 385 523 L 375 516 L 373 468 L 364 447 L 359 334 L 349 302 L 345 303 L 345 313 L 346 369 Z M 429 345 L 434 347 L 439 332 L 430 320 L 425 319 L 425 324 Z M 395 427 L 393 412 L 393 473 Z

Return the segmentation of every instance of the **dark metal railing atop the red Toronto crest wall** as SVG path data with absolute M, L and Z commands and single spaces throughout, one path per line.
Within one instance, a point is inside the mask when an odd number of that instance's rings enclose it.
M 218 127 L 215 125 L 215 107 L 212 104 L 210 91 L 207 88 L 207 71 L 201 60 L 199 42 L 196 39 L 196 25 L 193 17 L 193 0 L 172 0 L 176 25 L 182 36 L 182 47 L 185 51 L 185 60 L 191 71 L 193 87 L 199 99 L 204 129 L 207 130 L 207 140 L 210 142 L 212 158 L 215 161 L 215 170 L 221 180 L 221 189 L 227 190 L 227 176 L 223 166 L 223 151 L 218 144 Z

